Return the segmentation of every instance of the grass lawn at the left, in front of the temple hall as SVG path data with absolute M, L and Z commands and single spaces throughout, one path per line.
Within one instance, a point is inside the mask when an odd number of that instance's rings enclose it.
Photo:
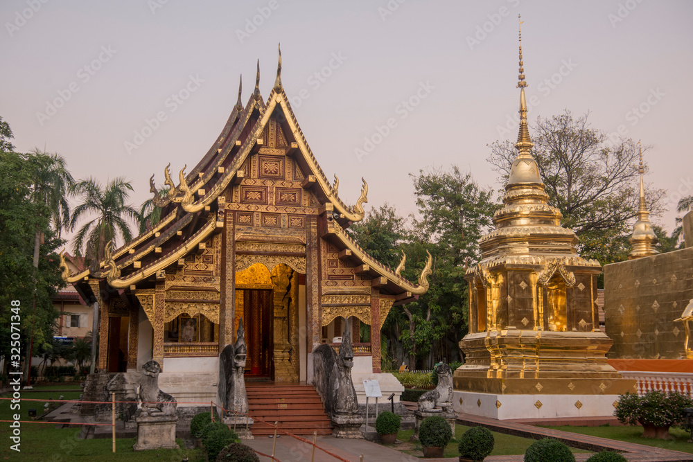
M 66 389 L 66 385 L 51 386 L 50 389 Z M 44 390 L 43 387 L 35 387 L 37 390 Z M 78 387 L 79 388 L 79 387 Z M 56 393 L 55 391 L 32 391 L 21 393 L 22 398 L 27 399 L 58 399 L 62 394 L 65 400 L 76 400 L 80 396 L 81 390 L 64 391 Z M 2 397 L 7 398 L 11 395 L 4 394 Z M 28 417 L 28 409 L 36 409 L 38 414 L 42 414 L 44 402 L 22 401 L 21 402 L 21 419 L 30 420 Z M 10 401 L 0 400 L 0 420 L 12 420 L 12 415 L 17 413 L 16 410 L 10 409 Z M 125 457 L 129 461 L 181 461 L 187 457 L 189 461 L 204 461 L 205 454 L 202 450 L 152 450 L 134 452 L 135 438 L 116 439 L 116 452 L 112 452 L 112 442 L 110 439 L 92 439 L 79 440 L 80 427 L 58 429 L 55 424 L 43 423 L 22 423 L 21 424 L 21 452 L 10 450 L 10 436 L 12 434 L 9 427 L 10 423 L 0 423 L 0 441 L 3 441 L 0 450 L 0 459 L 8 459 L 11 461 L 84 461 L 91 462 L 98 460 L 99 462 L 106 461 L 121 461 Z M 183 441 L 178 440 L 177 443 L 184 447 Z

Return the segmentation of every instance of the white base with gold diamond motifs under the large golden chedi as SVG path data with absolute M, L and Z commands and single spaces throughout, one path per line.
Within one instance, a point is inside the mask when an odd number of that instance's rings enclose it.
M 489 418 L 611 417 L 618 395 L 501 395 L 453 391 L 455 412 Z

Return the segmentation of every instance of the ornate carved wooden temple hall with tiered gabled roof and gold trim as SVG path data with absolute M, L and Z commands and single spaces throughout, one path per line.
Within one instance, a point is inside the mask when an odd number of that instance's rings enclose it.
M 412 283 L 347 236 L 364 217 L 368 185 L 355 205 L 342 202 L 337 177 L 328 181 L 289 105 L 281 53 L 266 101 L 259 72 L 258 64 L 245 105 L 239 88 L 209 151 L 188 172 L 178 166 L 177 186 L 170 164 L 165 193 L 152 175 L 157 224 L 119 249 L 107 246 L 90 269 L 76 273 L 63 262 L 64 279 L 100 307 L 99 371 L 139 371 L 154 359 L 162 389 L 179 401 L 209 401 L 218 355 L 243 319 L 247 379 L 310 382 L 313 348 L 336 348 L 348 320 L 358 390 L 359 374 L 381 372 L 388 312 L 428 290 L 430 256 Z

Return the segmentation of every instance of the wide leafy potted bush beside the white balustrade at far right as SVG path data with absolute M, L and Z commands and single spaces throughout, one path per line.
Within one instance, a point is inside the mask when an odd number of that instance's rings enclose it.
M 678 391 L 652 390 L 643 396 L 626 393 L 619 396 L 613 415 L 620 423 L 642 425 L 643 438 L 672 439 L 669 427 L 685 420 L 683 409 L 692 406 L 690 396 Z

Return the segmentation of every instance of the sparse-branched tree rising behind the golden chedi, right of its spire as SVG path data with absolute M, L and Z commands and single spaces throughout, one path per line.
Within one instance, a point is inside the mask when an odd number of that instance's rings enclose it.
M 580 254 L 606 265 L 628 254 L 624 238 L 638 211 L 639 150 L 631 139 L 609 139 L 591 127 L 588 116 L 574 118 L 566 110 L 538 118 L 532 127 L 532 155 L 549 203 L 563 214 L 561 224 L 580 239 Z M 514 143 L 495 141 L 490 148 L 488 160 L 505 183 L 517 155 Z M 663 196 L 663 190 L 647 190 L 653 215 L 661 212 Z

